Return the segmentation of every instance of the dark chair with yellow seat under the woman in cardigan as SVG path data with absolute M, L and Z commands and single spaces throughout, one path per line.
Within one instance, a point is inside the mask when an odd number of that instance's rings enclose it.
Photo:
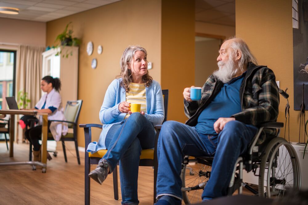
M 163 97 L 164 97 L 164 110 L 165 110 L 165 117 L 164 121 L 167 120 L 167 111 L 168 111 L 168 90 L 162 90 Z M 164 122 L 163 121 L 163 122 Z M 157 125 L 160 127 L 161 125 Z M 87 152 L 87 147 L 91 142 L 91 128 L 103 128 L 102 124 L 79 124 L 79 127 L 84 129 L 84 137 L 85 137 L 85 163 L 84 163 L 84 200 L 85 204 L 90 204 L 90 177 L 88 174 L 90 173 L 91 164 L 98 164 L 99 160 L 106 154 L 107 149 L 99 150 L 98 152 L 95 152 L 91 154 L 90 152 Z M 156 200 L 156 178 L 157 178 L 157 141 L 158 141 L 158 135 L 159 130 L 156 129 L 156 137 L 155 137 L 155 146 L 154 149 L 144 149 L 141 151 L 140 155 L 140 162 L 139 166 L 149 166 L 154 168 L 154 191 L 153 191 L 153 201 L 155 203 Z M 114 198 L 115 200 L 119 199 L 119 190 L 118 190 L 118 171 L 117 166 L 112 172 L 113 175 L 113 190 L 114 190 Z

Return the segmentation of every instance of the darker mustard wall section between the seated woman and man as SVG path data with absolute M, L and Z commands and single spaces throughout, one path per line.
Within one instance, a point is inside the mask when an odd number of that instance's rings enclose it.
M 169 89 L 168 120 L 187 120 L 182 93 L 195 83 L 194 12 L 194 1 L 162 0 L 161 86 Z

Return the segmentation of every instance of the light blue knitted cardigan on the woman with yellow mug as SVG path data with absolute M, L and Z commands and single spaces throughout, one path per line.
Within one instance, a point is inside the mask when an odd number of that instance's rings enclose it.
M 105 139 L 107 132 L 113 124 L 121 123 L 126 113 L 119 111 L 119 104 L 126 101 L 125 89 L 121 87 L 122 78 L 115 79 L 108 86 L 103 105 L 99 111 L 99 120 L 103 123 L 103 130 L 99 135 L 98 142 L 91 142 L 87 147 L 87 152 L 97 152 L 106 149 Z M 160 85 L 157 81 L 148 88 L 145 88 L 147 113 L 144 116 L 155 125 L 162 124 L 164 120 L 164 99 Z

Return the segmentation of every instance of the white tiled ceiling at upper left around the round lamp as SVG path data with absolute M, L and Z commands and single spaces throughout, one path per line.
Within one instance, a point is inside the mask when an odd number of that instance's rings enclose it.
M 19 14 L 0 18 L 48 22 L 120 0 L 0 0 L 0 6 L 19 9 Z

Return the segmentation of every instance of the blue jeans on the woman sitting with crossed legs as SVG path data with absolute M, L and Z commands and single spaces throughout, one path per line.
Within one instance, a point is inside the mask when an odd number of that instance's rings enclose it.
M 138 169 L 142 149 L 154 147 L 153 123 L 139 112 L 134 112 L 108 131 L 105 144 L 107 153 L 102 159 L 115 168 L 120 160 L 122 204 L 138 204 Z

